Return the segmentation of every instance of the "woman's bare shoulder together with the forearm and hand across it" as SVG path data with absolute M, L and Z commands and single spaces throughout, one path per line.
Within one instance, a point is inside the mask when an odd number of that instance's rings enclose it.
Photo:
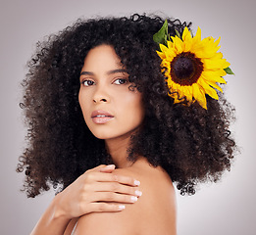
M 114 174 L 106 173 L 112 171 Z M 141 182 L 138 189 L 143 194 L 137 202 L 130 203 L 128 199 L 137 189 L 132 185 L 134 179 Z M 114 198 L 108 198 L 110 195 Z M 175 201 L 167 173 L 154 168 L 144 170 L 144 166 L 134 171 L 99 165 L 54 198 L 31 235 L 70 235 L 76 222 L 76 235 L 176 235 Z M 126 209 L 120 211 L 120 204 L 125 204 Z

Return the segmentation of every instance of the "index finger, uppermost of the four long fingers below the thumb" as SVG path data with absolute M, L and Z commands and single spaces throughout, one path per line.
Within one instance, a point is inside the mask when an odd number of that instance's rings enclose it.
M 119 182 L 121 184 L 127 184 L 130 186 L 138 186 L 140 182 L 133 177 L 124 176 L 115 173 L 105 172 L 91 172 L 86 176 L 88 181 L 99 181 L 99 182 Z

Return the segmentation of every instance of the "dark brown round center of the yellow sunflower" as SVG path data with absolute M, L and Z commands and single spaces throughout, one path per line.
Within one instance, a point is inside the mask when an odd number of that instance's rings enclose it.
M 182 52 L 171 62 L 172 79 L 179 85 L 192 85 L 202 71 L 203 63 L 191 52 Z

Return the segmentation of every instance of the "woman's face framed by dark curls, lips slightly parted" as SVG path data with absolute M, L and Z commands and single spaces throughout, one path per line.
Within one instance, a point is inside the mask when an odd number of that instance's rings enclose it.
M 83 118 L 99 139 L 130 135 L 144 118 L 142 95 L 130 91 L 128 73 L 113 47 L 91 49 L 80 73 L 79 105 Z

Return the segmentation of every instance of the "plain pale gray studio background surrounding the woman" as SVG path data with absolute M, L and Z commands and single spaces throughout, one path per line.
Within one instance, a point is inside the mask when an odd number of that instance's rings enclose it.
M 191 21 L 202 36 L 221 36 L 221 51 L 235 76 L 226 76 L 226 94 L 236 107 L 231 126 L 241 154 L 218 184 L 202 185 L 192 197 L 178 198 L 179 235 L 256 234 L 255 176 L 255 7 L 254 0 L 1 0 L 0 6 L 0 234 L 26 235 L 54 192 L 26 199 L 24 175 L 16 173 L 26 129 L 19 108 L 20 82 L 35 43 L 78 17 L 160 13 Z

